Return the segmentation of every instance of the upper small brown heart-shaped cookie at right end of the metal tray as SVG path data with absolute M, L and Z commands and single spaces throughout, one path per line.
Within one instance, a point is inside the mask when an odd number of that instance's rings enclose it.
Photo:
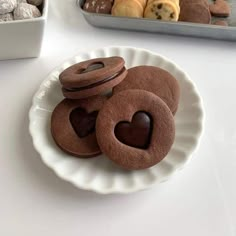
M 213 16 L 228 17 L 230 15 L 230 7 L 225 0 L 216 0 L 209 5 L 209 9 Z

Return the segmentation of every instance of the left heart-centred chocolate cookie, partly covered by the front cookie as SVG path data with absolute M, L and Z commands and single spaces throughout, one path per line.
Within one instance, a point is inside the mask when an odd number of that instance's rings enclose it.
M 54 109 L 51 117 L 51 133 L 58 147 L 82 158 L 101 153 L 97 144 L 95 123 L 98 111 L 106 97 L 88 99 L 64 99 Z

